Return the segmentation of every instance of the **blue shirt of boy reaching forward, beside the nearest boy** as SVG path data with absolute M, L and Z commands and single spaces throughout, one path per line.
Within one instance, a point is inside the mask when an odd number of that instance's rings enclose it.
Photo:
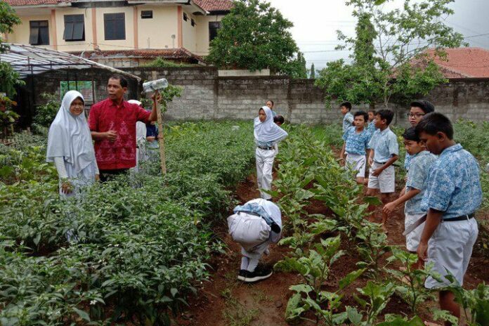
M 408 171 L 408 181 L 406 181 L 406 193 L 412 189 L 421 190 L 421 193 L 412 197 L 405 203 L 404 214 L 417 215 L 426 213 L 421 208 L 426 181 L 428 180 L 429 169 L 436 161 L 437 157 L 427 150 L 410 155 L 411 167 Z

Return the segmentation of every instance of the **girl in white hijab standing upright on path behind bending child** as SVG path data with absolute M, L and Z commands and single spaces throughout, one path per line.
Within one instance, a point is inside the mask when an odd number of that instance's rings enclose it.
M 272 110 L 264 106 L 254 119 L 254 137 L 256 143 L 256 179 L 261 198 L 271 200 L 272 196 L 261 191 L 272 188 L 273 160 L 277 154 L 275 144 L 287 137 L 287 131 L 273 122 Z

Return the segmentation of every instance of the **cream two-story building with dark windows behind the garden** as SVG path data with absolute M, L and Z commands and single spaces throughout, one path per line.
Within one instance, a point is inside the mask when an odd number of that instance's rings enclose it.
M 230 0 L 2 0 L 22 24 L 8 42 L 74 53 L 113 67 L 157 57 L 198 63 Z

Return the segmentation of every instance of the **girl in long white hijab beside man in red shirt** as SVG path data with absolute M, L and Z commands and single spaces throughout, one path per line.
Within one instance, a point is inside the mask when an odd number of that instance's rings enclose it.
M 81 93 L 67 91 L 49 128 L 46 161 L 56 165 L 63 197 L 77 195 L 81 186 L 98 180 L 95 150 L 84 109 Z

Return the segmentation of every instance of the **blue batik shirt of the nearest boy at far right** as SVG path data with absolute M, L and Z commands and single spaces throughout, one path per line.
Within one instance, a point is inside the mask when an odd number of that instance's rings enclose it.
M 481 202 L 476 159 L 460 144 L 445 148 L 429 171 L 422 209 L 443 211 L 443 219 L 452 219 L 474 213 Z

